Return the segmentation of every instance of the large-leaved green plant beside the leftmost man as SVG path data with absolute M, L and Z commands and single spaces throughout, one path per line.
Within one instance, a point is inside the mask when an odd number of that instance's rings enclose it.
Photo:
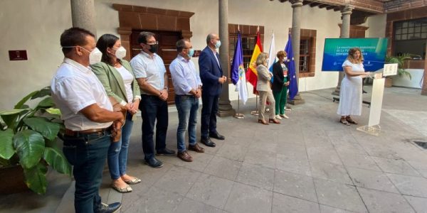
M 38 98 L 36 107 L 26 104 Z M 20 165 L 26 185 L 38 194 L 46 193 L 49 165 L 71 175 L 71 165 L 57 146 L 64 127 L 54 105 L 51 88 L 45 87 L 23 97 L 14 109 L 0 111 L 0 169 Z

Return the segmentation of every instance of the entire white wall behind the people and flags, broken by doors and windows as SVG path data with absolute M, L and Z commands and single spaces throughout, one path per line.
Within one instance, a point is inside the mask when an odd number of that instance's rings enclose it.
M 209 0 L 95 0 L 97 35 L 117 35 L 118 12 L 112 4 L 130 4 L 160 9 L 194 12 L 190 18 L 195 49 L 206 46 L 206 35 L 218 33 L 218 1 Z M 9 109 L 25 94 L 45 87 L 51 81 L 56 67 L 63 60 L 59 37 L 71 26 L 69 0 L 1 0 L 0 31 L 4 32 L 0 47 L 3 65 L 0 78 L 0 110 Z M 228 22 L 260 25 L 265 28 L 263 48 L 268 51 L 270 35 L 274 30 L 276 51 L 283 50 L 292 26 L 292 7 L 289 2 L 259 0 L 229 0 Z M 317 7 L 302 7 L 301 28 L 317 31 L 315 77 L 300 79 L 300 91 L 335 87 L 337 72 L 321 72 L 325 38 L 338 38 L 341 14 Z M 9 61 L 7 50 L 27 50 L 27 61 Z M 197 65 L 197 59 L 194 59 Z M 229 87 L 230 98 L 237 99 L 235 87 Z M 251 84 L 248 84 L 251 93 Z

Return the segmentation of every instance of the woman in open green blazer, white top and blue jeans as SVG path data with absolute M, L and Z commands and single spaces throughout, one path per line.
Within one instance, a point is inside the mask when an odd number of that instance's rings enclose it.
M 141 95 L 130 63 L 122 58 L 126 55 L 120 39 L 104 34 L 96 47 L 102 52 L 101 62 L 91 65 L 93 72 L 105 88 L 110 98 L 127 109 L 126 122 L 122 126 L 122 138 L 110 145 L 107 155 L 108 168 L 112 178 L 111 187 L 118 192 L 132 192 L 128 184 L 141 182 L 139 178 L 126 174 L 127 150 L 132 131 L 132 117 L 137 113 Z

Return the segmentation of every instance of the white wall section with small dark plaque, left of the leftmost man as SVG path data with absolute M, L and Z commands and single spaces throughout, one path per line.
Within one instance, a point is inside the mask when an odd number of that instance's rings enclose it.
M 63 60 L 59 37 L 71 27 L 68 0 L 0 1 L 0 110 L 50 84 Z M 8 50 L 26 50 L 28 60 L 10 61 Z

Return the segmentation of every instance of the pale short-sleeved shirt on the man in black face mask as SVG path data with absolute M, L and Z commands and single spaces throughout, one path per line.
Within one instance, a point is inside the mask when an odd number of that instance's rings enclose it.
M 135 78 L 146 78 L 147 83 L 154 87 L 154 89 L 162 90 L 164 88 L 164 73 L 166 72 L 166 67 L 164 67 L 164 62 L 159 55 L 154 53 L 154 55 L 148 55 L 141 51 L 138 55 L 135 55 L 132 60 L 130 60 L 130 65 L 134 72 Z M 142 94 L 147 94 L 141 89 Z

